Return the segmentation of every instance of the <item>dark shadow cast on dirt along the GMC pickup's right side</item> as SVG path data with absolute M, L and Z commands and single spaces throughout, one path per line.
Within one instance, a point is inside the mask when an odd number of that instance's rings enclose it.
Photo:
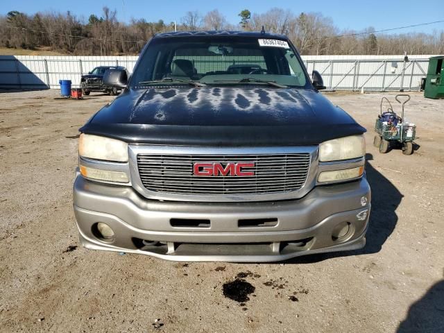
M 370 224 L 366 234 L 366 246 L 360 250 L 343 251 L 334 253 L 322 253 L 318 255 L 306 255 L 288 260 L 286 263 L 311 264 L 321 262 L 334 257 L 345 257 L 348 255 L 367 255 L 378 253 L 382 245 L 390 237 L 398 223 L 398 215 L 395 210 L 401 203 L 403 195 L 398 189 L 372 167 L 368 162 L 373 160 L 372 154 L 366 155 L 366 177 L 372 189 L 372 209 L 370 212 Z

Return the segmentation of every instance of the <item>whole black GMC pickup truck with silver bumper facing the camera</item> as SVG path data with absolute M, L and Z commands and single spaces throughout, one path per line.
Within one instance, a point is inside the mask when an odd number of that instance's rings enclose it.
M 271 262 L 365 245 L 365 129 L 284 35 L 162 33 L 103 80 L 123 91 L 80 128 L 86 248 Z

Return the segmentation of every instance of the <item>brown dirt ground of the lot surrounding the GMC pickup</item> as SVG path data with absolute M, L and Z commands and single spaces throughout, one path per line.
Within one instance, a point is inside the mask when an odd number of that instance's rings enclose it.
M 326 93 L 368 129 L 366 248 L 183 264 L 78 247 L 77 130 L 112 97 L 0 93 L 0 331 L 444 332 L 444 100 L 411 95 L 420 148 L 404 156 L 372 145 L 384 94 Z M 244 305 L 223 296 L 239 273 Z

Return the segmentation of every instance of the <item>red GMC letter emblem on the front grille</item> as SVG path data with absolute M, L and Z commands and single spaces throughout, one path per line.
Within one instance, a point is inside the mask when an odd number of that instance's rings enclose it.
M 194 176 L 255 176 L 254 171 L 242 171 L 243 168 L 254 168 L 254 163 L 194 163 Z

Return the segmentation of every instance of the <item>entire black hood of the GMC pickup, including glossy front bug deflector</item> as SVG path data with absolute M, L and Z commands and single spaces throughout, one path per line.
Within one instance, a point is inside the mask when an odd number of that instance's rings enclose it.
M 80 131 L 147 144 L 268 146 L 365 129 L 314 90 L 246 86 L 126 89 Z

